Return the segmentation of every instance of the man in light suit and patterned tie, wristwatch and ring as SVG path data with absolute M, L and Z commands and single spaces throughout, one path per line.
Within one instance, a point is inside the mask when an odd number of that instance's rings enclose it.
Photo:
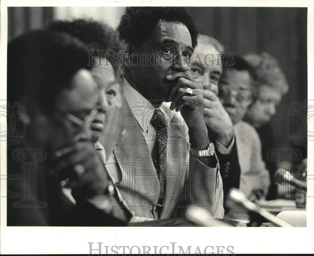
M 118 26 L 127 43 L 122 107 L 100 142 L 106 168 L 134 215 L 170 218 L 186 204 L 222 218 L 219 164 L 190 74 L 198 32 L 180 7 L 129 7 Z M 113 206 L 114 207 L 114 206 Z

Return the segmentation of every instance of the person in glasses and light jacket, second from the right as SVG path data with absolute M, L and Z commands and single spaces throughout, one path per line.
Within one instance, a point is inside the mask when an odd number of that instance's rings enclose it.
M 219 98 L 230 115 L 236 134 L 239 164 L 239 189 L 251 199 L 265 198 L 270 184 L 261 155 L 261 142 L 254 127 L 242 121 L 252 103 L 253 78 L 246 61 L 234 58 L 232 66 L 224 66 L 219 80 Z

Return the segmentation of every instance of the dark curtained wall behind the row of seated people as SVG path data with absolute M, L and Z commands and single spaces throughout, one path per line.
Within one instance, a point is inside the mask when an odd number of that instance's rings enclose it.
M 227 52 L 268 52 L 279 60 L 289 82 L 271 124 L 277 147 L 292 147 L 287 108 L 307 98 L 307 8 L 188 7 L 200 33 L 211 35 Z M 52 7 L 9 7 L 8 40 L 53 19 Z M 297 130 L 297 122 L 289 124 Z

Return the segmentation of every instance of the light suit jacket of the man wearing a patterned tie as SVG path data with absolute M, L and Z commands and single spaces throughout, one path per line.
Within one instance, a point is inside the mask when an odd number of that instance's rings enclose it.
M 164 206 L 157 214 L 160 182 L 143 132 L 122 95 L 110 129 L 99 142 L 106 151 L 106 168 L 136 216 L 165 219 L 180 210 L 182 202 L 204 207 L 223 218 L 223 190 L 216 155 L 215 168 L 190 160 L 188 128 L 180 112 L 168 123 Z M 169 110 L 170 111 L 170 110 Z

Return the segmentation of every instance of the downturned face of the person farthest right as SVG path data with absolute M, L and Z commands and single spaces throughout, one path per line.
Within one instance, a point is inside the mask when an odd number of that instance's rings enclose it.
M 276 107 L 281 101 L 281 94 L 272 87 L 263 85 L 259 88 L 256 102 L 248 109 L 246 116 L 256 128 L 270 121 L 276 114 Z

